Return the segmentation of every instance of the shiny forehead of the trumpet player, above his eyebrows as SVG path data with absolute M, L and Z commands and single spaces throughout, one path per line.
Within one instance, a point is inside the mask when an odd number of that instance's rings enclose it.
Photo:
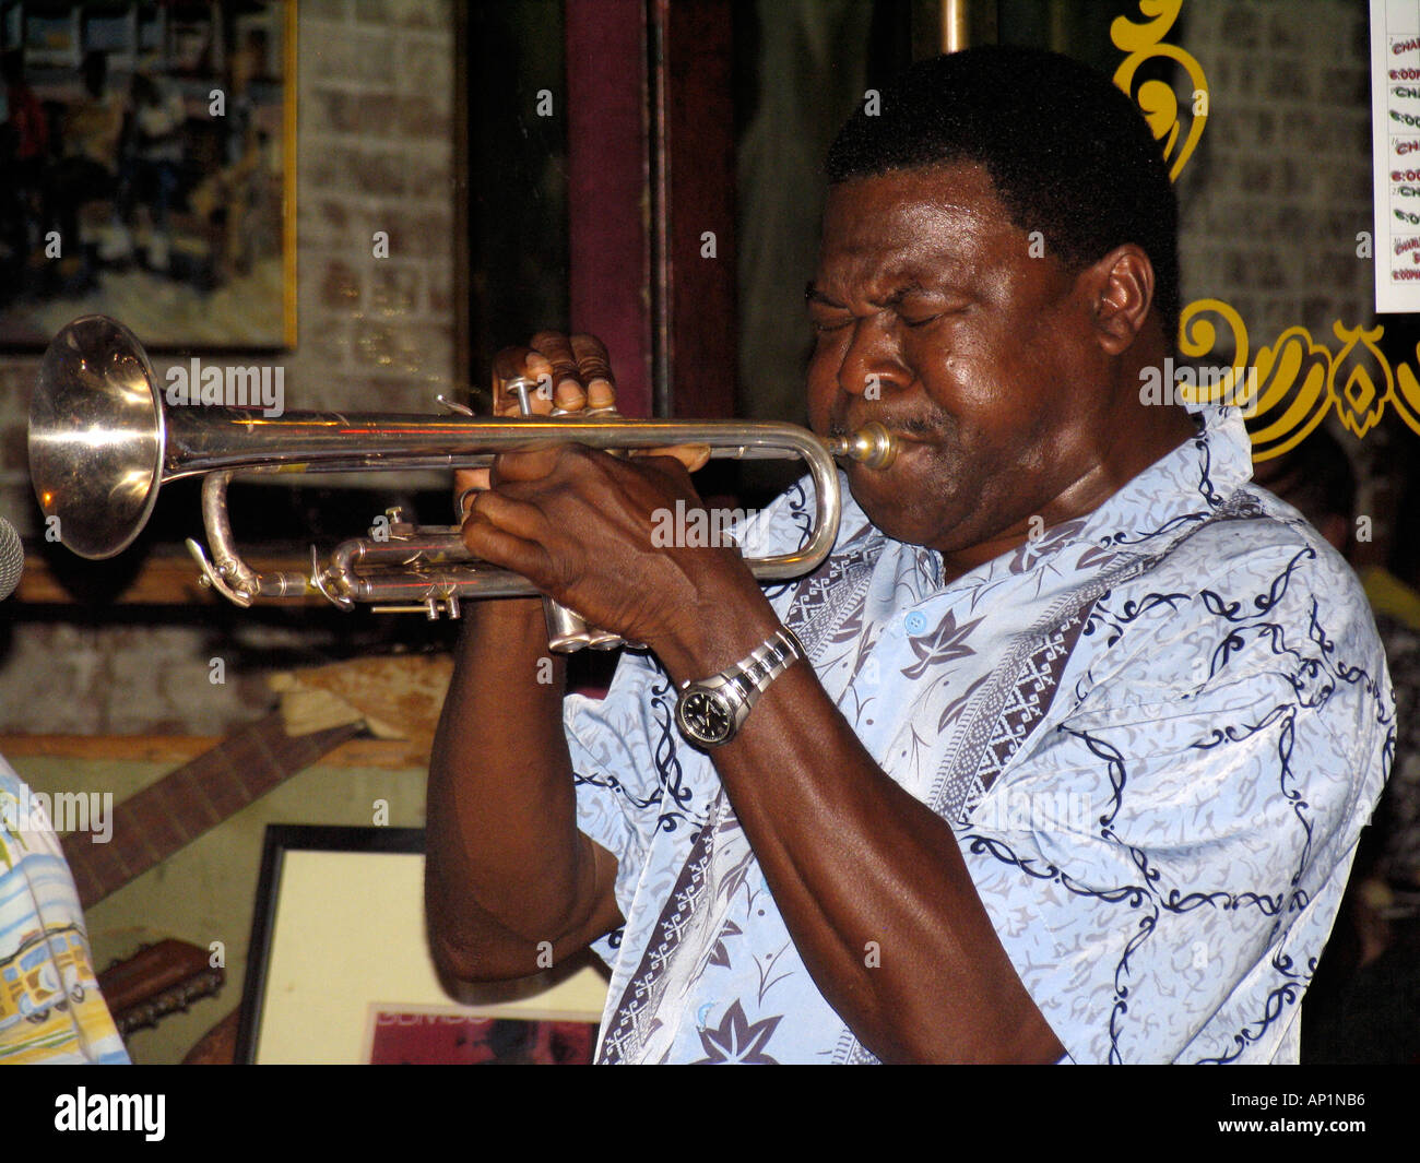
M 985 169 L 960 162 L 832 186 L 821 258 L 825 266 L 936 264 L 1015 249 L 1024 237 Z

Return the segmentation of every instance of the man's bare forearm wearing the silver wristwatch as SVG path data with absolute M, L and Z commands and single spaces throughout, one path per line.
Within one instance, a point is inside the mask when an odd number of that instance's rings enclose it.
M 723 608 L 734 615 L 662 648 L 677 683 L 743 657 L 778 625 L 763 601 Z M 808 666 L 774 680 L 714 763 L 805 967 L 869 1049 L 895 1061 L 1064 1052 L 950 825 L 878 767 Z

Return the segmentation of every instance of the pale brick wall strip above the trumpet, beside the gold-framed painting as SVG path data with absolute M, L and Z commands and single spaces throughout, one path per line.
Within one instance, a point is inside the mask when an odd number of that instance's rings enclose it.
M 453 3 L 302 0 L 300 11 L 291 406 L 432 412 L 454 375 Z M 376 231 L 388 258 L 373 257 Z

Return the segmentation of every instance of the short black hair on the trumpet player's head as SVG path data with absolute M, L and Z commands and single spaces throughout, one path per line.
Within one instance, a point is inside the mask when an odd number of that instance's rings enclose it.
M 829 182 L 951 162 L 985 168 L 1021 230 L 1081 271 L 1122 243 L 1154 268 L 1164 342 L 1179 331 L 1179 200 L 1143 114 L 1108 77 L 1038 48 L 917 61 L 848 119 Z

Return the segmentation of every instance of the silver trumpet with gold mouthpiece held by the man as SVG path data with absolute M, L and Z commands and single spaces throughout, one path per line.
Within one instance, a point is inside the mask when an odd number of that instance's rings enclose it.
M 525 392 L 528 385 L 513 386 Z M 835 457 L 883 469 L 897 452 L 896 437 L 878 423 L 824 439 L 787 423 L 626 420 L 598 413 L 267 416 L 258 409 L 173 405 L 138 339 L 102 315 L 75 320 L 54 337 L 40 366 L 28 430 L 40 508 L 80 557 L 122 552 L 142 533 L 160 486 L 202 476 L 209 552 L 193 540 L 187 548 L 203 584 L 239 606 L 320 594 L 346 611 L 369 604 L 378 612 L 422 612 L 432 619 L 457 618 L 462 599 L 540 591 L 520 574 L 476 559 L 459 525 L 415 525 L 393 510 L 388 527 L 337 545 L 325 559 L 312 547 L 310 574 L 258 572 L 243 561 L 231 535 L 227 486 L 239 474 L 483 467 L 498 453 L 550 442 L 606 450 L 701 444 L 711 459 L 802 459 L 814 480 L 814 528 L 794 552 L 748 559 L 761 581 L 811 572 L 832 548 L 841 508 Z M 554 628 L 552 639 L 559 650 L 619 643 L 575 615 Z

